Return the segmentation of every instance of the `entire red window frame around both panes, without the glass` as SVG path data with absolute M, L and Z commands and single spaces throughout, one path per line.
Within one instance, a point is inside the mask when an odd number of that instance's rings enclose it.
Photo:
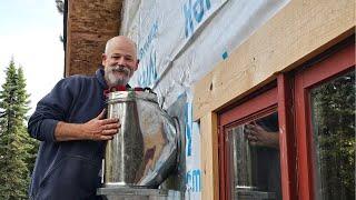
M 337 52 L 322 53 L 319 58 L 324 59 L 318 58 L 318 62 L 304 64 L 297 69 L 297 72 L 277 74 L 277 87 L 249 96 L 230 110 L 222 110 L 218 113 L 219 193 L 221 200 L 230 199 L 229 160 L 225 147 L 225 130 L 230 126 L 271 113 L 276 109 L 278 110 L 279 123 L 283 199 L 314 199 L 314 166 L 310 160 L 313 152 L 310 146 L 312 124 L 307 91 L 355 66 L 354 43 L 355 40 L 347 39 L 330 49 Z

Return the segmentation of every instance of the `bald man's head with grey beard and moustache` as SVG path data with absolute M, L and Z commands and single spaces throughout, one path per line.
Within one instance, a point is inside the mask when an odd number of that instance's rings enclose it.
M 109 87 L 127 84 L 138 67 L 135 42 L 123 36 L 111 38 L 102 53 L 102 66 Z

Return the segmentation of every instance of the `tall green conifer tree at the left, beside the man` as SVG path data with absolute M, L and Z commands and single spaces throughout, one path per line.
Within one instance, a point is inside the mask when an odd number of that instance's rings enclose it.
M 0 199 L 27 199 L 34 148 L 26 127 L 28 98 L 23 71 L 12 59 L 0 91 Z

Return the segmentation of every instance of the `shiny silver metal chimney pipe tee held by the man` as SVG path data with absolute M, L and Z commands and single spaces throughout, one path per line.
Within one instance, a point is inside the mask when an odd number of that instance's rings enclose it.
M 145 91 L 111 92 L 108 118 L 121 128 L 106 147 L 105 187 L 158 187 L 177 163 L 175 120 Z

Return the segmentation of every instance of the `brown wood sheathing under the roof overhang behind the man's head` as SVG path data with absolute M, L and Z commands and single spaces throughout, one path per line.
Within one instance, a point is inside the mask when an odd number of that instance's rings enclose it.
M 106 41 L 119 33 L 122 0 L 68 0 L 66 77 L 93 74 Z

